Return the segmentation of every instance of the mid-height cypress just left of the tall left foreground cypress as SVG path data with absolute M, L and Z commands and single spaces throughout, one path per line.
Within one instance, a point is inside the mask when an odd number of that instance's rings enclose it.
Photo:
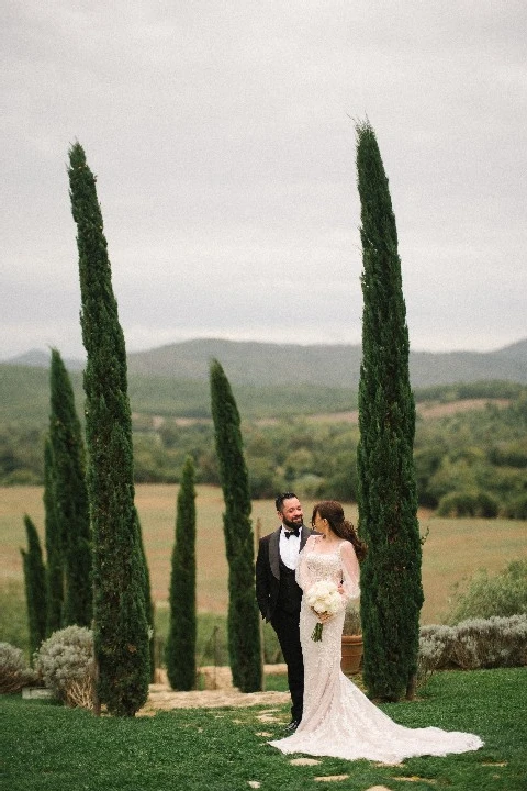
M 63 625 L 90 626 L 93 599 L 92 558 L 85 446 L 75 410 L 74 389 L 57 349 L 52 349 L 49 381 L 49 437 L 65 577 Z

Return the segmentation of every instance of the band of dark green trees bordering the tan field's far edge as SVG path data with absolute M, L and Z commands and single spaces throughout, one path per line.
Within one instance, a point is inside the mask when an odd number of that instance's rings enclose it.
M 427 398 L 425 398 L 426 396 Z M 451 515 L 503 515 L 527 519 L 527 388 L 507 382 L 482 382 L 416 391 L 417 403 L 449 403 L 458 398 L 506 399 L 508 405 L 460 411 L 435 419 L 417 415 L 414 460 L 419 505 L 439 508 L 449 495 L 486 491 L 483 504 L 462 498 Z M 148 415 L 133 421 L 136 483 L 178 483 L 188 455 L 198 483 L 220 486 L 212 421 L 181 423 Z M 242 420 L 253 499 L 272 498 L 292 487 L 304 497 L 356 501 L 357 425 L 328 419 Z M 0 482 L 44 482 L 44 432 L 27 425 L 0 430 Z M 446 504 L 448 505 L 449 500 Z M 445 503 L 444 503 L 445 505 Z M 448 514 L 447 514 L 448 515 Z

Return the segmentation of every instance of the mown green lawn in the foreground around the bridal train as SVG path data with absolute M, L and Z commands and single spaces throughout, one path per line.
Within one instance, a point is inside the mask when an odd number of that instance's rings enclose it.
M 372 786 L 413 791 L 525 791 L 527 669 L 444 672 L 426 697 L 383 706 L 412 727 L 437 725 L 480 734 L 485 746 L 446 758 L 412 758 L 389 767 L 322 758 L 292 766 L 266 744 L 283 733 L 281 723 L 258 718 L 262 709 L 160 712 L 154 717 L 96 718 L 90 713 L 4 697 L 4 783 L 10 791 L 264 791 L 319 789 L 318 777 L 347 775 L 335 788 Z M 268 709 L 265 711 L 269 711 Z

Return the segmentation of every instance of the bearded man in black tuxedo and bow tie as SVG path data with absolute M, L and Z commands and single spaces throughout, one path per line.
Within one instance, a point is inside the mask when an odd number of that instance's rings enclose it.
M 279 494 L 274 501 L 281 525 L 274 533 L 260 538 L 256 558 L 256 598 L 261 616 L 271 622 L 288 666 L 293 732 L 302 720 L 304 699 L 304 661 L 300 645 L 300 605 L 302 590 L 294 572 L 299 553 L 311 530 L 303 524 L 302 505 L 294 492 Z

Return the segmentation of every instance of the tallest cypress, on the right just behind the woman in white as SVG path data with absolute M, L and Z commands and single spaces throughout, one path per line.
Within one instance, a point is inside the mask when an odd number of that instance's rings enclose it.
M 359 383 L 359 531 L 363 677 L 385 700 L 410 694 L 416 671 L 421 541 L 413 463 L 415 405 L 397 232 L 388 178 L 369 122 L 357 124 L 361 201 L 362 363 Z

